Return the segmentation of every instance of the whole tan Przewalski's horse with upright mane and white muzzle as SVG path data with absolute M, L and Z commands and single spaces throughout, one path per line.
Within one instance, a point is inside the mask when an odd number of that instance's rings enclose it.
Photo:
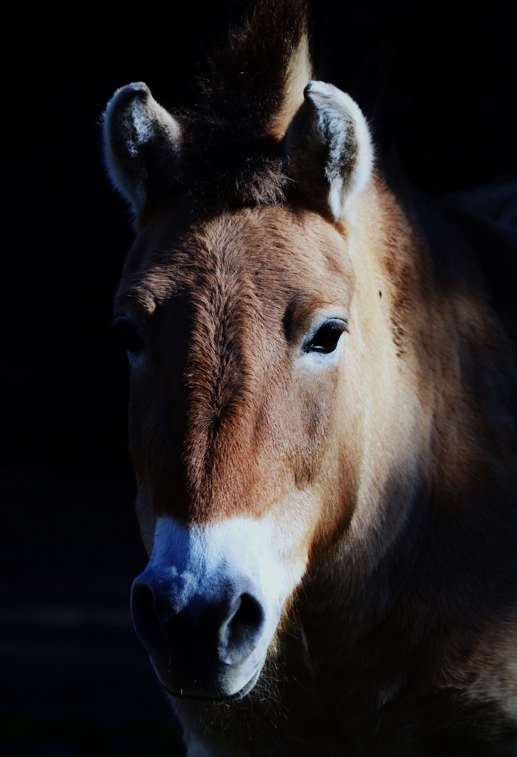
M 194 113 L 107 106 L 135 629 L 189 757 L 515 755 L 511 239 L 396 196 L 311 78 L 266 2 Z

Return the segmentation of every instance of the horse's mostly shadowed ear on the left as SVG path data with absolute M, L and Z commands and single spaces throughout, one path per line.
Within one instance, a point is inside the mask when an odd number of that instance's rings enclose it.
M 104 114 L 104 156 L 115 187 L 136 213 L 170 189 L 181 126 L 143 82 L 117 89 Z

